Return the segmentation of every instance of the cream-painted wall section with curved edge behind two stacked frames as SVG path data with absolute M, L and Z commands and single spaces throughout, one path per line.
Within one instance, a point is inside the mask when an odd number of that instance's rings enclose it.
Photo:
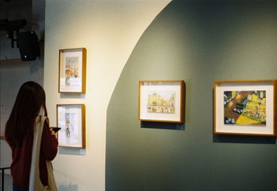
M 59 190 L 105 190 L 107 106 L 136 42 L 169 1 L 46 0 L 44 89 L 50 125 L 56 104 L 86 107 L 86 148 L 59 147 Z M 87 48 L 87 91 L 58 93 L 59 49 Z

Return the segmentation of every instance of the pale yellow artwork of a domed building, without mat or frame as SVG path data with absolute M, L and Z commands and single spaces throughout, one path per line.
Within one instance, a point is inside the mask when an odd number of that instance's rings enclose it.
M 175 91 L 148 91 L 148 113 L 175 113 Z

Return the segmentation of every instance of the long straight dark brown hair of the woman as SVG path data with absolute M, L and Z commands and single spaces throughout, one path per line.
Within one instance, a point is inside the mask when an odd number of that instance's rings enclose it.
M 22 84 L 6 123 L 5 138 L 9 145 L 21 147 L 24 137 L 33 134 L 35 118 L 41 107 L 47 116 L 44 89 L 36 82 Z

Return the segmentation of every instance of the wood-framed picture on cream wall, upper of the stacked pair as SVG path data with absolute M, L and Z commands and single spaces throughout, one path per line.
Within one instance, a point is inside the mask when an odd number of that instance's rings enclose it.
M 59 57 L 59 92 L 85 93 L 86 48 L 61 49 Z

